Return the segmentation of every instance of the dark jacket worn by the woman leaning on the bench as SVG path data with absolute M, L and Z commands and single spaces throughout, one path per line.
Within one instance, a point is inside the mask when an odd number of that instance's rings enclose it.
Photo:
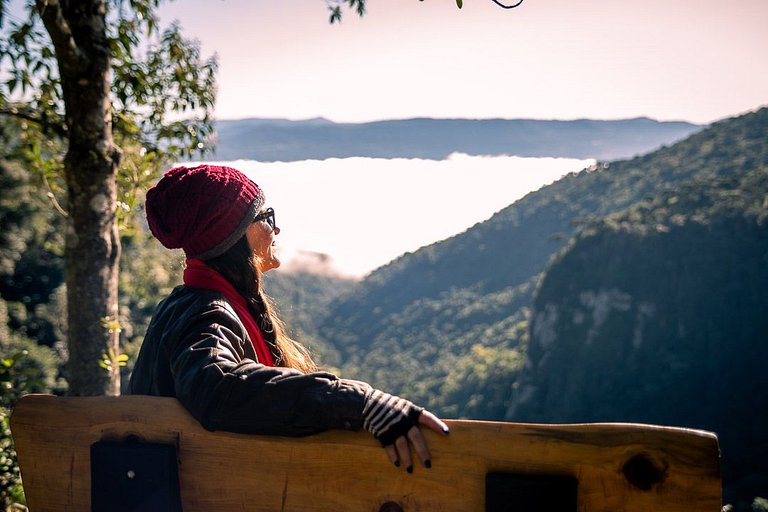
M 155 311 L 129 392 L 174 396 L 208 430 L 302 436 L 362 427 L 368 384 L 256 361 L 221 293 L 178 286 Z

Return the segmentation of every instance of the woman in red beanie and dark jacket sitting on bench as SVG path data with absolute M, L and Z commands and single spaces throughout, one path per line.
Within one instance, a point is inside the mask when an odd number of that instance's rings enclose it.
M 419 426 L 447 434 L 445 423 L 317 371 L 286 335 L 260 286 L 280 266 L 280 228 L 255 183 L 230 167 L 177 167 L 147 192 L 146 212 L 155 237 L 183 249 L 187 262 L 184 284 L 155 310 L 130 393 L 175 396 L 209 430 L 301 436 L 364 427 L 395 466 L 413 471 L 412 445 L 431 467 Z

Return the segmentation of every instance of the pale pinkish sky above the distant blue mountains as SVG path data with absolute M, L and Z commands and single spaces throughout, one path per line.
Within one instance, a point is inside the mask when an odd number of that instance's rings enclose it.
M 768 104 L 768 0 L 176 0 L 216 54 L 220 119 L 710 123 Z

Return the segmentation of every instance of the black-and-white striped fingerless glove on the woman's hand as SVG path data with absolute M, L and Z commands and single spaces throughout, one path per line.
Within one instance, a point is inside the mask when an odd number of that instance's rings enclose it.
M 363 427 L 381 446 L 388 446 L 418 424 L 423 410 L 404 398 L 374 389 L 365 397 Z

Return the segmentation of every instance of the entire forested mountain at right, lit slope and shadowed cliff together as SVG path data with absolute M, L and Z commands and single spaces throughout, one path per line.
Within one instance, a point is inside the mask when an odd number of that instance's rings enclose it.
M 767 170 L 766 108 L 598 163 L 373 272 L 317 332 L 446 417 L 712 428 L 742 503 L 768 474 Z

